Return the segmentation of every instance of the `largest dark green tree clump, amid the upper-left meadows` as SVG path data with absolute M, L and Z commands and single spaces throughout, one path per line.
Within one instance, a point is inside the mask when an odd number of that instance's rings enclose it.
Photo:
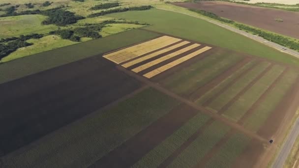
M 43 25 L 55 24 L 57 26 L 65 26 L 76 23 L 80 19 L 84 19 L 83 16 L 76 16 L 73 12 L 58 10 L 46 10 L 41 14 L 49 16 L 42 22 Z

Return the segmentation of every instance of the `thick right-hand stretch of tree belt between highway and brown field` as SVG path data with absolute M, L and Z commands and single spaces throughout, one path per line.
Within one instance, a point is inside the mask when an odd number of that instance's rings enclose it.
M 269 40 L 274 43 L 280 44 L 282 46 L 288 47 L 290 49 L 299 51 L 299 43 L 296 41 L 290 40 L 289 38 L 283 37 L 281 35 L 269 33 L 269 32 L 266 32 L 266 31 L 263 31 L 263 30 L 260 30 L 257 28 L 252 28 L 252 27 L 242 25 L 242 24 L 235 24 L 235 26 L 240 29 L 253 32 L 253 33 L 257 34 L 258 36 L 265 38 L 266 40 Z

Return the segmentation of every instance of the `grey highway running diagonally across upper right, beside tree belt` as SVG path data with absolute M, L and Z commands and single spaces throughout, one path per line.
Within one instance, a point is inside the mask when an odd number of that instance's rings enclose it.
M 180 14 L 184 14 L 184 15 L 188 15 L 188 16 L 192 16 L 192 15 L 189 15 L 189 14 L 186 14 L 186 13 L 182 13 L 182 12 L 178 12 L 178 11 L 173 11 L 173 10 L 168 10 L 168 9 L 163 9 L 163 8 L 157 8 L 157 9 L 161 9 L 161 10 L 167 10 L 167 11 L 172 11 L 172 12 L 176 12 L 176 13 L 180 13 Z M 202 19 L 202 20 L 205 20 L 205 21 L 208 21 L 209 23 L 212 23 L 212 24 L 215 24 L 215 25 L 218 25 L 222 28 L 226 28 L 226 29 L 229 29 L 231 31 L 234 31 L 236 33 L 239 33 L 243 36 L 246 36 L 248 38 L 251 38 L 255 41 L 258 41 L 260 43 L 263 43 L 269 47 L 272 47 L 276 50 L 279 50 L 280 52 L 284 52 L 284 53 L 287 53 L 289 55 L 292 55 L 292 56 L 295 56 L 295 57 L 298 57 L 299 58 L 299 52 L 298 51 L 295 51 L 295 50 L 292 50 L 292 49 L 289 49 L 287 47 L 284 47 L 282 45 L 279 45 L 279 44 L 276 44 L 276 43 L 273 43 L 271 41 L 268 41 L 260 36 L 257 36 L 257 35 L 253 35 L 251 33 L 247 33 L 245 31 L 242 31 L 242 30 L 239 30 L 238 28 L 233 28 L 231 26 L 228 26 L 228 25 L 225 25 L 225 24 L 222 24 L 220 22 L 217 22 L 217 21 L 213 21 L 213 20 L 210 20 L 210 19 L 207 19 L 207 18 L 204 18 L 204 17 L 200 17 L 200 16 L 192 16 L 192 17 L 195 17 L 195 18 L 199 18 L 199 19 Z

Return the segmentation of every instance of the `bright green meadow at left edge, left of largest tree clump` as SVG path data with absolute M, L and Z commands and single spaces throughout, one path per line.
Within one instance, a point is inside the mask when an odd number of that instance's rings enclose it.
M 42 15 L 21 15 L 0 18 L 0 38 L 20 36 L 30 33 L 48 33 L 58 28 L 55 25 L 41 25 L 47 18 Z

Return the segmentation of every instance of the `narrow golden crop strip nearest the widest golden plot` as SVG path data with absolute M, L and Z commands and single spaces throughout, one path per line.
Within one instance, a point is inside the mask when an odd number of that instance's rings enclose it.
M 185 44 L 189 44 L 189 43 L 190 43 L 189 41 L 183 41 L 183 42 L 181 42 L 181 43 L 179 43 L 179 44 L 173 45 L 173 46 L 168 47 L 168 48 L 166 48 L 166 49 L 159 50 L 159 51 L 154 52 L 154 53 L 152 53 L 152 54 L 149 54 L 149 55 L 147 55 L 147 56 L 143 56 L 143 57 L 140 57 L 140 58 L 138 58 L 138 59 L 135 59 L 135 60 L 132 60 L 132 61 L 130 61 L 130 62 L 127 62 L 127 63 L 125 63 L 125 64 L 122 64 L 121 66 L 122 66 L 122 67 L 125 67 L 125 68 L 130 67 L 130 66 L 135 65 L 135 64 L 137 64 L 137 63 L 139 63 L 139 62 L 145 61 L 145 60 L 150 59 L 150 58 L 153 58 L 153 57 L 155 57 L 155 56 L 159 56 L 160 54 L 163 54 L 163 53 L 166 53 L 166 52 L 168 52 L 168 51 L 174 50 L 174 49 L 176 49 L 176 48 L 179 48 L 179 47 L 181 47 L 181 46 L 183 46 L 183 45 L 185 45 Z

